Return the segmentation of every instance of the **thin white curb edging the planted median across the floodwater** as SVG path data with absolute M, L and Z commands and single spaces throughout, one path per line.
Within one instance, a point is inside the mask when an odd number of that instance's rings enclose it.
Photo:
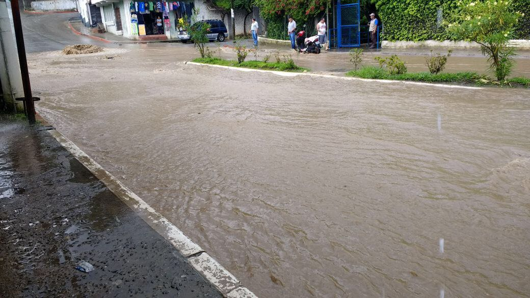
M 378 80 L 372 78 L 360 78 L 360 77 L 348 77 L 348 76 L 334 76 L 334 75 L 325 75 L 325 74 L 313 74 L 313 73 L 290 73 L 290 72 L 280 72 L 280 71 L 267 71 L 265 69 L 254 69 L 254 68 L 244 68 L 244 67 L 234 67 L 234 66 L 225 66 L 225 65 L 216 65 L 216 64 L 207 64 L 207 63 L 197 63 L 197 62 L 184 62 L 184 64 L 192 65 L 205 65 L 211 67 L 220 67 L 227 69 L 234 69 L 240 72 L 261 72 L 261 73 L 273 73 L 280 76 L 316 76 L 316 77 L 328 77 L 335 78 L 339 80 L 347 81 L 365 81 L 365 82 L 381 82 L 381 83 L 396 83 L 396 84 L 411 84 L 411 85 L 427 85 L 434 87 L 444 87 L 444 88 L 462 88 L 462 89 L 483 89 L 483 87 L 472 87 L 472 86 L 460 86 L 460 85 L 447 85 L 447 84 L 437 84 L 437 83 L 425 83 L 425 82 L 412 82 L 412 81 L 394 81 L 394 80 Z

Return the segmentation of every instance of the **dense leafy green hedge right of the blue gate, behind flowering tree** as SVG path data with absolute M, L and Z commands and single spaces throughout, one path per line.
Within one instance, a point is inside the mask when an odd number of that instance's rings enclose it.
M 458 0 L 373 0 L 384 25 L 383 40 L 445 40 L 449 35 L 437 21 L 441 8 L 443 19 L 451 21 Z M 530 39 L 530 0 L 513 0 L 514 10 L 524 12 L 517 29 L 518 39 Z

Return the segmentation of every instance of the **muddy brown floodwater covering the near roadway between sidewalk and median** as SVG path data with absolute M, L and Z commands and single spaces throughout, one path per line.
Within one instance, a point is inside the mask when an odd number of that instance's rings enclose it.
M 102 55 L 30 56 L 38 111 L 259 297 L 530 297 L 527 89 Z

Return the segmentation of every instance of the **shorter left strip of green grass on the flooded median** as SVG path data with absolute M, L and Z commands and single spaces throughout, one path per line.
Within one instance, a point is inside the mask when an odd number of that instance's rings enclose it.
M 263 61 L 244 61 L 242 63 L 237 63 L 235 60 L 225 60 L 219 58 L 196 58 L 193 59 L 193 62 L 204 63 L 204 64 L 214 64 L 214 65 L 223 65 L 223 66 L 233 66 L 233 67 L 242 67 L 242 68 L 253 68 L 253 69 L 264 69 L 266 71 L 280 71 L 280 72 L 304 72 L 309 71 L 307 68 L 299 67 L 294 64 L 294 62 L 263 62 Z

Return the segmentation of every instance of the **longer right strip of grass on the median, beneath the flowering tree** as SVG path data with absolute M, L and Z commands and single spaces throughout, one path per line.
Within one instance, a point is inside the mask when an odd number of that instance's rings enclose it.
M 476 84 L 476 85 L 506 85 L 506 86 L 524 86 L 530 87 L 530 79 L 525 77 L 507 78 L 503 82 L 492 81 L 487 76 L 475 72 L 462 73 L 439 73 L 431 74 L 429 72 L 390 74 L 385 69 L 366 66 L 358 71 L 349 71 L 347 76 L 372 78 L 377 80 L 395 80 L 395 81 L 415 81 L 428 83 L 459 83 L 459 84 Z

